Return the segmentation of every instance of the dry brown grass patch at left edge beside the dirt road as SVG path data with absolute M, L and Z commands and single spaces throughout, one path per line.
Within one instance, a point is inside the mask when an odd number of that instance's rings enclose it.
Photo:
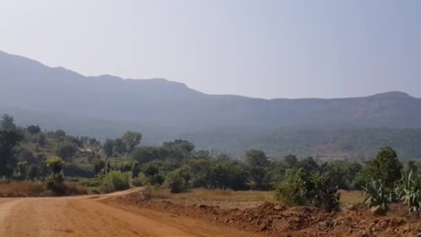
M 0 182 L 0 196 L 2 197 L 26 197 L 40 196 L 46 193 L 42 182 Z

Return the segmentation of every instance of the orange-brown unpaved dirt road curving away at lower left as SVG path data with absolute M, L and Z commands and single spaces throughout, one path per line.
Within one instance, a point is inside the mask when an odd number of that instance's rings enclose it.
M 116 195 L 132 191 L 64 198 L 0 198 L 0 237 L 256 236 L 112 202 Z

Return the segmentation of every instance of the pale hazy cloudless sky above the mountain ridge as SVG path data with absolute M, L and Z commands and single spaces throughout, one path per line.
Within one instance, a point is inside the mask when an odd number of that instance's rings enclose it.
M 421 97 L 421 1 L 0 0 L 0 50 L 262 98 Z

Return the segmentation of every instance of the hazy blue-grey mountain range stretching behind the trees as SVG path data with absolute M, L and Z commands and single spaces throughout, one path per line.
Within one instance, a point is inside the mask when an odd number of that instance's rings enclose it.
M 244 148 L 256 147 L 267 150 L 269 155 L 296 152 L 298 155 L 332 157 L 337 154 L 343 157 L 344 154 L 370 153 L 377 145 L 393 144 L 394 138 L 403 139 L 402 132 L 415 136 L 413 138 L 418 142 L 421 128 L 421 98 L 399 91 L 334 99 L 266 100 L 208 95 L 164 79 L 82 76 L 0 51 L 2 112 L 14 115 L 21 125 L 35 123 L 48 130 L 62 128 L 71 134 L 100 139 L 118 137 L 125 130 L 138 130 L 143 132 L 145 144 L 184 138 L 191 139 L 199 148 L 234 154 Z M 361 151 L 352 144 L 359 137 L 357 133 L 354 140 L 348 141 L 349 146 L 354 146 L 349 152 L 344 152 L 343 148 L 326 149 L 332 146 L 332 139 L 339 136 L 338 131 L 342 131 L 339 134 L 349 131 L 341 136 L 347 137 L 355 131 L 377 134 L 382 128 L 388 128 L 386 137 L 391 141 L 378 141 L 378 144 L 372 141 L 373 148 Z M 315 136 L 303 131 L 312 131 Z M 291 144 L 297 139 L 294 136 L 323 140 L 317 136 L 323 134 L 329 139 L 303 151 L 303 139 L 296 140 L 295 148 L 280 146 L 278 142 L 285 143 L 285 137 L 275 137 L 282 134 L 288 134 L 286 143 Z M 265 139 L 266 143 L 262 144 Z M 406 150 L 397 148 L 400 149 Z M 417 149 L 407 158 L 421 157 L 421 150 L 418 153 Z

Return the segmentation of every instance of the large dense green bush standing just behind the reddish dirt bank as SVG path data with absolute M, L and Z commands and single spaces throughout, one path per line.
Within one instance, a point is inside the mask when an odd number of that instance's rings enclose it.
M 285 182 L 275 191 L 277 200 L 290 205 L 312 205 L 325 211 L 339 209 L 337 186 L 321 173 L 305 172 L 303 168 L 287 169 Z

